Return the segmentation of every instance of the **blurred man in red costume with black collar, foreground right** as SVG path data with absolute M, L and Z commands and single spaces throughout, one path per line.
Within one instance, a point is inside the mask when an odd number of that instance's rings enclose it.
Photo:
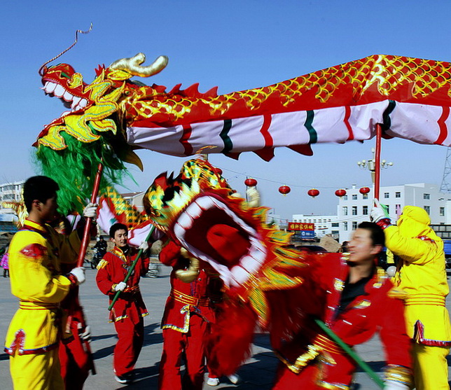
M 363 222 L 349 242 L 349 253 L 318 258 L 321 263 L 314 280 L 328 294 L 326 302 L 312 305 L 326 308 L 326 324 L 350 346 L 366 342 L 379 330 L 387 356 L 384 388 L 407 390 L 410 340 L 405 334 L 403 301 L 391 297 L 393 284 L 375 265 L 383 246 L 382 229 Z M 284 364 L 274 389 L 350 389 L 356 364 L 314 323 L 306 324 L 278 355 Z

